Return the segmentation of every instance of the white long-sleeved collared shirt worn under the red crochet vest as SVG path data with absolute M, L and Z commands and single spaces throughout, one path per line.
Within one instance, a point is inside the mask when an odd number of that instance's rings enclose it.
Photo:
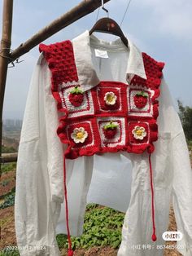
M 127 82 L 134 74 L 146 78 L 142 54 L 129 41 L 103 42 L 86 31 L 72 40 L 81 86 L 89 90 L 99 81 Z M 107 51 L 98 58 L 94 49 Z M 59 114 L 50 91 L 50 70 L 43 55 L 34 69 L 24 113 L 16 172 L 15 230 L 20 255 L 59 255 L 56 233 L 66 233 L 63 203 L 63 152 L 56 130 Z M 67 160 L 69 226 L 80 236 L 88 202 L 126 212 L 118 256 L 163 255 L 163 232 L 168 229 L 172 200 L 181 254 L 192 255 L 192 172 L 181 121 L 162 79 L 159 96 L 159 139 L 151 155 L 154 171 L 155 226 L 151 241 L 151 185 L 148 153 L 105 153 Z M 154 245 L 138 250 L 133 245 Z M 26 248 L 24 246 L 31 246 Z

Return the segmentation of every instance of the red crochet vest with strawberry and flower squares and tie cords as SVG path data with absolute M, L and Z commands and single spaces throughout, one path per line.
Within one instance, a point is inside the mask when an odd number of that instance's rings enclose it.
M 146 80 L 135 75 L 129 84 L 105 81 L 83 91 L 78 82 L 72 42 L 41 44 L 40 51 L 44 52 L 52 73 L 52 94 L 59 112 L 63 113 L 57 132 L 61 142 L 68 144 L 64 159 L 92 156 L 97 152 L 142 153 L 147 150 L 150 153 L 152 240 L 155 241 L 151 152 L 153 142 L 158 139 L 157 98 L 164 63 L 142 53 Z M 64 166 L 64 179 L 65 171 Z M 69 230 L 68 239 L 70 243 Z

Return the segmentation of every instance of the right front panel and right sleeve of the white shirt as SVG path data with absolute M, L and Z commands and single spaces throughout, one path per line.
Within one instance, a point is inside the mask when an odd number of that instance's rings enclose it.
M 185 256 L 192 249 L 192 175 L 189 152 L 181 121 L 172 103 L 168 85 L 161 82 L 159 96 L 158 132 L 155 152 L 151 155 L 154 170 L 156 245 L 163 245 L 162 234 L 168 230 L 169 207 L 175 212 L 177 230 L 183 238 L 177 241 L 177 250 Z M 151 186 L 149 179 L 148 153 L 133 154 L 132 190 L 129 209 L 124 218 L 122 242 L 118 256 L 161 256 L 151 238 Z M 135 218 L 139 212 L 139 218 Z M 151 244 L 152 249 L 134 249 L 135 245 Z

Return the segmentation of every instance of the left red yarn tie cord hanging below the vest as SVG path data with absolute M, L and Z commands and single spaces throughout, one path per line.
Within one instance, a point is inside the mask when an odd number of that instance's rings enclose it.
M 73 255 L 72 250 L 72 241 L 70 237 L 69 225 L 68 225 L 68 190 L 67 190 L 67 182 L 66 182 L 66 164 L 65 164 L 65 156 L 63 157 L 63 181 L 64 181 L 64 196 L 65 196 L 65 210 L 66 210 L 66 224 L 68 231 L 68 256 Z

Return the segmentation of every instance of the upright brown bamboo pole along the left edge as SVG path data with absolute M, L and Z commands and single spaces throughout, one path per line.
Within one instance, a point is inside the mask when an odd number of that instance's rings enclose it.
M 4 0 L 2 10 L 2 41 L 0 48 L 0 157 L 2 157 L 2 108 L 7 79 L 7 65 L 9 63 L 7 58 L 10 55 L 11 47 L 13 0 Z

